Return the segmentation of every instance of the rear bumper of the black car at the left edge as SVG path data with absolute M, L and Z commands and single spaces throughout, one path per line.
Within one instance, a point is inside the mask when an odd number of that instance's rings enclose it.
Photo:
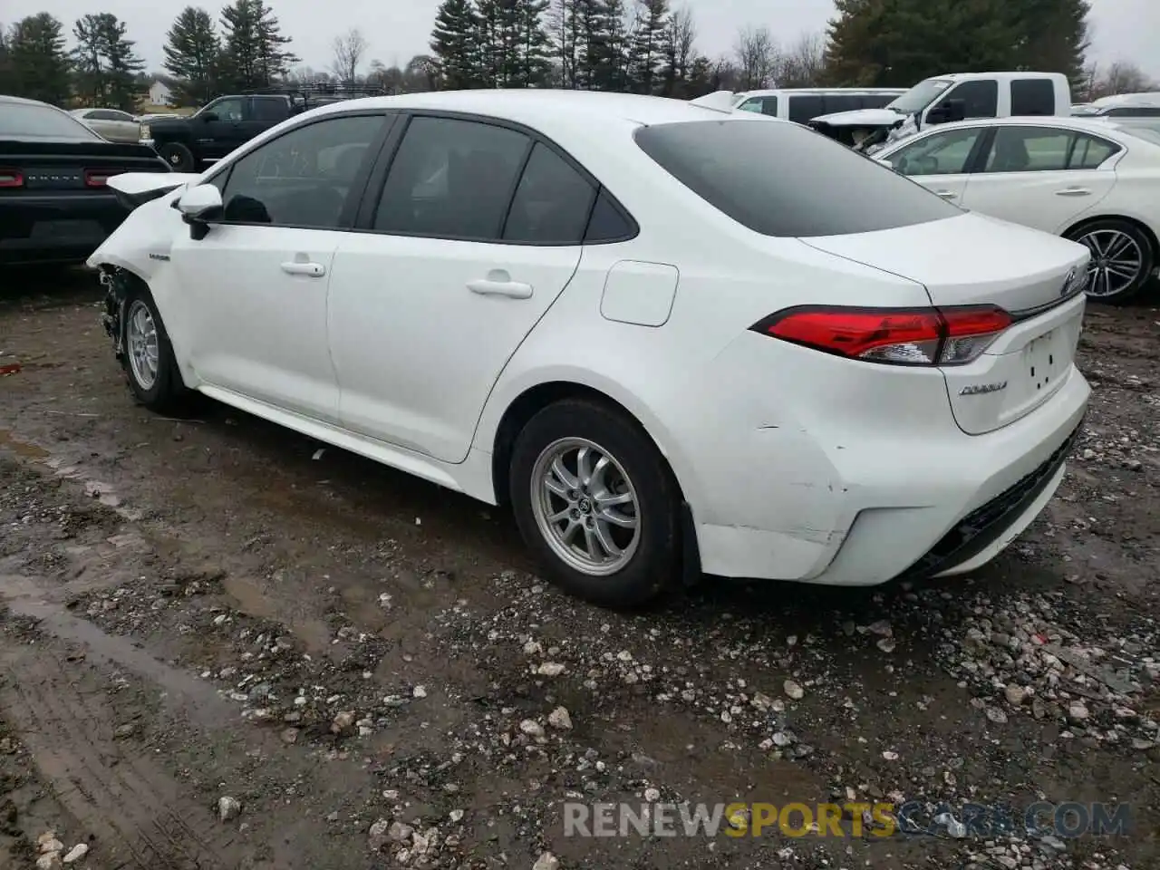
M 77 262 L 128 216 L 114 194 L 23 196 L 0 204 L 0 263 Z

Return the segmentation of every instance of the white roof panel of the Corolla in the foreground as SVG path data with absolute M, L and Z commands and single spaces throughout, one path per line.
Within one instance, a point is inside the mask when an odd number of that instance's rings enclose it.
M 683 121 L 773 122 L 754 113 L 732 114 L 696 106 L 687 100 L 640 94 L 565 89 L 435 90 L 396 96 L 368 96 L 319 106 L 299 117 L 321 117 L 361 109 L 427 109 L 466 113 L 509 121 L 543 132 L 570 130 L 600 135 L 599 124 L 625 129 Z

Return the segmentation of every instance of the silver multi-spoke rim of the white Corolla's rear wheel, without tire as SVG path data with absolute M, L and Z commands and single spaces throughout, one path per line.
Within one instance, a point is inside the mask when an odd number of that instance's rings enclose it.
M 624 567 L 639 545 L 636 488 L 599 444 L 561 438 L 544 449 L 531 479 L 532 515 L 561 561 L 592 575 Z

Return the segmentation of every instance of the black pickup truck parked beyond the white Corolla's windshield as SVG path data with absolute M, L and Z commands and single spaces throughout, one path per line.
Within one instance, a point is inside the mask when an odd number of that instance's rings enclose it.
M 229 94 L 211 100 L 188 118 L 162 118 L 142 125 L 142 142 L 152 145 L 174 172 L 201 172 L 293 115 L 317 106 L 385 94 L 380 88 L 365 87 L 270 88 Z

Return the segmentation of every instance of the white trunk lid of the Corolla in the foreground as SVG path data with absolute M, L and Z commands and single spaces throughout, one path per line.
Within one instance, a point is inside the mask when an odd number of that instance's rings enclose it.
M 942 367 L 955 420 L 967 434 L 1030 414 L 1073 374 L 1090 258 L 1081 245 L 976 213 L 803 241 L 918 281 L 936 306 L 998 305 L 1014 317 L 978 360 Z

